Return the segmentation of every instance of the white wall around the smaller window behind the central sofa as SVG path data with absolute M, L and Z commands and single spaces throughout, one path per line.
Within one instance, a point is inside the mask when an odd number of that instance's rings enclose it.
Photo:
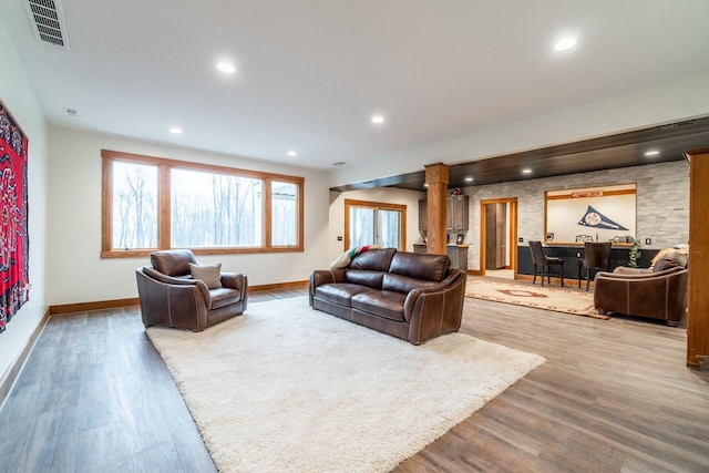
M 413 244 L 419 241 L 419 199 L 425 194 L 413 191 L 378 187 L 373 189 L 330 192 L 330 212 L 328 228 L 328 257 L 335 260 L 345 251 L 345 199 L 380 202 L 407 206 L 407 251 L 413 251 Z

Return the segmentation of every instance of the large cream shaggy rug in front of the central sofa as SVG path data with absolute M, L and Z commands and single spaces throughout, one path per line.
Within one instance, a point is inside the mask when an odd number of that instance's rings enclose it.
M 414 347 L 306 297 L 147 333 L 220 472 L 388 472 L 544 362 L 463 333 Z

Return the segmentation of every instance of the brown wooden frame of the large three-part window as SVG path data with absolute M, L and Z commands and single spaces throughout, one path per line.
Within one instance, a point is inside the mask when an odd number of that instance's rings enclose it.
M 238 177 L 256 178 L 263 185 L 263 245 L 249 247 L 199 247 L 189 248 L 195 255 L 238 255 L 259 253 L 297 253 L 304 251 L 304 195 L 305 177 L 284 174 L 263 173 L 257 171 L 240 169 L 237 167 L 217 166 L 212 164 L 193 163 L 187 161 L 171 160 L 165 157 L 145 156 L 120 151 L 101 150 L 102 158 L 102 209 L 101 209 L 101 258 L 133 258 L 150 256 L 160 249 L 171 249 L 171 174 L 172 168 L 182 168 L 197 172 L 226 174 Z M 129 162 L 135 164 L 151 164 L 157 166 L 157 248 L 120 249 L 113 248 L 113 163 Z M 295 245 L 271 244 L 271 183 L 292 183 L 297 186 L 297 213 L 298 228 Z

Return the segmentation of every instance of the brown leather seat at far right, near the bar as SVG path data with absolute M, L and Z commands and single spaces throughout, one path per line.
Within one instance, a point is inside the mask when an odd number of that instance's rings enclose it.
M 598 273 L 594 307 L 604 312 L 666 320 L 675 327 L 687 309 L 686 265 L 685 255 L 669 254 L 654 260 L 650 268 L 620 266 L 613 273 Z

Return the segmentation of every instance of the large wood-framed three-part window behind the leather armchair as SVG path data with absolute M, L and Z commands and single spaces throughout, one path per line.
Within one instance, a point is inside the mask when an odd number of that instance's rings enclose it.
M 302 177 L 107 150 L 102 157 L 102 257 L 302 251 Z

